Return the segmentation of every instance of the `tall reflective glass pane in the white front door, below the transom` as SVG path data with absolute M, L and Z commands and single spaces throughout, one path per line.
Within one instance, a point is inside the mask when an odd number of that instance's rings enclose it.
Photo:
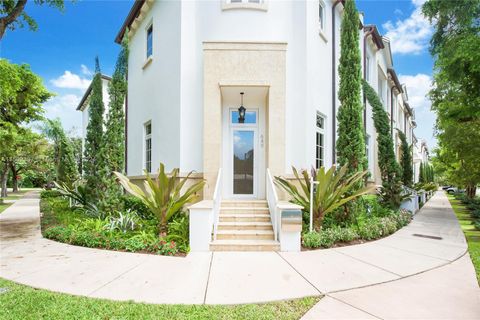
M 254 130 L 233 130 L 233 193 L 253 194 Z

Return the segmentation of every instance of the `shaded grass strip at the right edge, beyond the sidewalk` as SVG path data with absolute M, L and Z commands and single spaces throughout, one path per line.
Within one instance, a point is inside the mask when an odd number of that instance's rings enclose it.
M 467 238 L 468 252 L 470 253 L 470 258 L 472 258 L 473 266 L 477 273 L 477 280 L 480 285 L 480 231 L 475 229 L 475 226 L 472 224 L 473 218 L 470 212 L 460 200 L 456 200 L 452 195 L 448 196 L 448 200 L 450 200 L 453 211 L 455 211 L 458 222 L 460 222 L 462 230 L 465 233 L 465 238 Z

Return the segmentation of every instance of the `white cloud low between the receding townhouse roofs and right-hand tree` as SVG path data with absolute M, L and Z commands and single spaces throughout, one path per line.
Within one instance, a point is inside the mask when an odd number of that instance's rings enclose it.
M 415 110 L 415 121 L 417 122 L 415 134 L 419 139 L 426 139 L 428 146 L 433 148 L 436 145 L 436 139 L 433 135 L 436 116 L 430 110 L 431 102 L 427 97 L 432 86 L 432 77 L 419 73 L 416 75 L 399 75 L 398 78 L 401 83 L 406 85 L 408 103 Z

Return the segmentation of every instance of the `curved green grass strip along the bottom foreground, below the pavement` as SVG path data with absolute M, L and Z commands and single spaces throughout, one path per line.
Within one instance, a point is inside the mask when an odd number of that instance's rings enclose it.
M 0 278 L 0 319 L 300 319 L 320 297 L 235 306 L 155 305 L 72 296 Z

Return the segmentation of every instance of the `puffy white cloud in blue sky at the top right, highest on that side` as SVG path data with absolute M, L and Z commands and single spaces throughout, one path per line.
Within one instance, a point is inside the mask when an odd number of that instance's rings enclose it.
M 422 14 L 425 0 L 412 0 L 415 10 L 404 20 L 387 21 L 383 28 L 390 39 L 392 52 L 400 54 L 420 54 L 428 47 L 432 26 Z

